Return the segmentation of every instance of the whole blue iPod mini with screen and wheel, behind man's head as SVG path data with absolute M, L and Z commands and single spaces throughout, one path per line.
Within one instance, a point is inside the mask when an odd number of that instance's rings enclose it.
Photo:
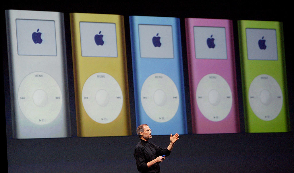
M 180 19 L 129 19 L 137 126 L 148 124 L 153 135 L 187 134 Z

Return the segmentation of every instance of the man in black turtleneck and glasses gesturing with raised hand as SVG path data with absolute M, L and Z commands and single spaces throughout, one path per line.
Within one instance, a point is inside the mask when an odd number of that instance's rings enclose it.
M 171 134 L 171 143 L 167 148 L 161 148 L 148 142 L 151 136 L 151 129 L 147 124 L 139 125 L 137 135 L 140 141 L 136 145 L 134 157 L 136 159 L 137 169 L 139 172 L 160 172 L 159 163 L 163 162 L 166 156 L 171 154 L 173 145 L 179 139 L 179 134 Z M 165 156 L 163 156 L 165 155 Z

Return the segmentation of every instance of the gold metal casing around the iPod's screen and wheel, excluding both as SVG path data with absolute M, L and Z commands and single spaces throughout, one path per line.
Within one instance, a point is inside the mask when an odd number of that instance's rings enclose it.
M 83 57 L 81 53 L 80 22 L 115 23 L 118 56 L 114 58 Z M 70 23 L 78 136 L 94 137 L 131 135 L 123 16 L 112 14 L 71 13 Z M 89 76 L 100 72 L 111 75 L 118 82 L 123 95 L 121 112 L 115 120 L 109 123 L 99 123 L 91 119 L 84 109 L 82 101 L 82 90 L 86 80 Z M 109 113 L 111 113 L 111 111 L 109 111 Z

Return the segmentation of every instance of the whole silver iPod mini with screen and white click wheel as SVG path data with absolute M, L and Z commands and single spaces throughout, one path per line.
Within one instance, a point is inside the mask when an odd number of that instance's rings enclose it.
M 5 14 L 13 138 L 71 136 L 63 13 Z

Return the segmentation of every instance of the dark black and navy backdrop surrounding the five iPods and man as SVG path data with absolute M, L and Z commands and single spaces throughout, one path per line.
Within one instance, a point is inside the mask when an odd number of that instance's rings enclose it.
M 6 45 L 5 10 L 58 11 L 64 13 L 69 76 L 70 113 L 73 137 L 50 139 L 12 139 L 9 97 L 9 74 Z M 125 18 L 129 94 L 131 103 L 131 136 L 77 137 L 74 105 L 73 67 L 69 13 L 119 14 Z M 5 101 L 1 116 L 4 160 L 9 172 L 136 172 L 133 150 L 138 142 L 133 96 L 131 43 L 128 16 L 167 16 L 181 21 L 183 68 L 186 92 L 188 135 L 180 135 L 173 151 L 162 162 L 161 172 L 292 172 L 293 158 L 293 23 L 292 5 L 283 1 L 7 1 L 1 7 L 1 48 L 3 81 L 1 98 Z M 241 133 L 192 134 L 188 68 L 185 39 L 185 18 L 233 20 L 235 58 Z M 237 20 L 281 21 L 284 26 L 285 55 L 291 132 L 245 133 L 240 76 Z M 220 67 L 221 68 L 221 67 Z M 4 116 L 5 114 L 5 116 Z M 4 123 L 6 122 L 6 124 Z M 151 127 L 152 128 L 152 127 Z M 119 130 L 119 129 L 113 129 Z M 4 135 L 3 135 L 4 137 Z M 5 137 L 4 137 L 5 139 Z M 161 147 L 169 144 L 168 135 L 153 136 L 150 140 Z M 7 150 L 6 146 L 7 144 Z M 5 162 L 4 162 L 5 163 Z M 5 168 L 5 167 L 4 167 Z

